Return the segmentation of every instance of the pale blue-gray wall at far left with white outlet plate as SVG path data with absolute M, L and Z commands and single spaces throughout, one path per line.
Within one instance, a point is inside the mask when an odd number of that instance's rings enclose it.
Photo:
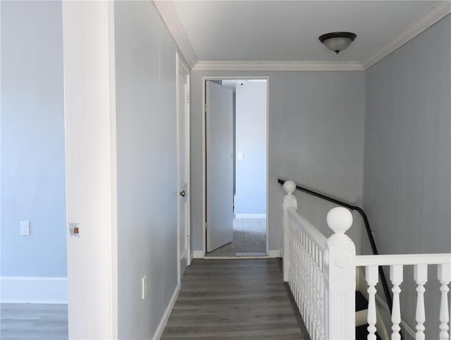
M 1 1 L 1 276 L 67 276 L 65 181 L 61 2 Z

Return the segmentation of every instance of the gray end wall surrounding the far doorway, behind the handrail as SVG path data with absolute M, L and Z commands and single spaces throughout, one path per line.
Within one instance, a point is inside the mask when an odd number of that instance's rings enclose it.
M 268 241 L 282 244 L 283 190 L 277 179 L 362 203 L 365 74 L 335 72 L 192 71 L 191 77 L 191 226 L 193 250 L 203 250 L 202 77 L 269 76 Z M 330 207 L 299 194 L 299 211 L 328 233 Z M 357 219 L 357 223 L 359 223 Z M 359 248 L 360 229 L 351 236 Z

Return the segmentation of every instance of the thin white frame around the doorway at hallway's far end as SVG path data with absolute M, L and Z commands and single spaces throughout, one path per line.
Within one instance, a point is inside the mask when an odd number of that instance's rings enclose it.
M 206 255 L 206 81 L 207 80 L 266 80 L 266 257 L 268 257 L 269 233 L 268 233 L 268 218 L 269 218 L 269 75 L 256 76 L 221 76 L 209 75 L 202 77 L 202 251 L 204 258 Z M 235 150 L 234 157 L 235 157 Z M 235 178 L 234 178 L 235 181 Z M 252 256 L 251 256 L 252 257 Z M 214 257 L 215 259 L 221 257 Z M 237 258 L 237 257 L 233 257 Z M 243 258 L 243 257 L 240 257 Z M 264 258 L 263 256 L 256 256 L 255 258 Z

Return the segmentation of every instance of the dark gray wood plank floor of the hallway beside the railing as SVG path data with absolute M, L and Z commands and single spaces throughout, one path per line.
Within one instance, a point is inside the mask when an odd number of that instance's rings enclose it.
M 309 339 L 301 329 L 278 260 L 196 259 L 161 339 Z

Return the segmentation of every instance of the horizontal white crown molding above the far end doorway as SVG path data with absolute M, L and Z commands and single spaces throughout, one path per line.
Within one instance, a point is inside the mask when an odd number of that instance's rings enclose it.
M 359 61 L 198 61 L 194 71 L 364 71 Z

